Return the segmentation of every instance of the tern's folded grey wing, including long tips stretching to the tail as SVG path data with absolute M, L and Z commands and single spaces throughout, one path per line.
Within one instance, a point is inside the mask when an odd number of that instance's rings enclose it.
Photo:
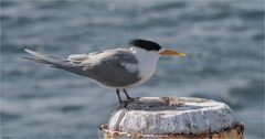
M 123 87 L 140 81 L 138 72 L 127 71 L 125 63 L 137 64 L 137 58 L 125 50 L 115 50 L 112 55 L 100 57 L 98 62 L 89 62 L 89 57 L 78 58 L 81 61 L 61 60 L 54 56 L 44 55 L 34 51 L 25 50 L 33 56 L 23 58 L 34 61 L 41 64 L 47 64 L 52 67 L 68 71 L 82 76 L 91 77 L 106 86 Z M 102 54 L 102 53 L 98 53 Z M 96 54 L 93 54 L 96 55 Z M 84 62 L 84 63 L 83 63 Z

